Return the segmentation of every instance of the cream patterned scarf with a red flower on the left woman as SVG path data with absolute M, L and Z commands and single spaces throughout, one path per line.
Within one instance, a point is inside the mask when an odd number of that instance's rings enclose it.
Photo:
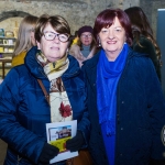
M 37 53 L 36 58 L 43 66 L 44 72 L 51 81 L 51 121 L 70 121 L 73 119 L 72 107 L 61 78 L 61 76 L 67 70 L 69 65 L 67 55 L 54 63 L 47 63 L 46 57 L 42 53 Z

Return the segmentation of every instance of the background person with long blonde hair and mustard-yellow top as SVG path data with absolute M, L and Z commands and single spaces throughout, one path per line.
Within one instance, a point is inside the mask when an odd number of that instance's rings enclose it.
M 16 44 L 12 57 L 12 67 L 24 64 L 24 57 L 32 46 L 36 45 L 34 30 L 37 16 L 26 15 L 20 24 Z

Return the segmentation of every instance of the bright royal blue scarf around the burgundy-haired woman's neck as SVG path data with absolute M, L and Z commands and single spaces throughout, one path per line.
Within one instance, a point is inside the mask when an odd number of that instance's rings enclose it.
M 107 134 L 116 134 L 117 85 L 125 65 L 128 44 L 114 62 L 109 62 L 101 50 L 97 66 L 97 106 L 99 123 L 106 122 Z

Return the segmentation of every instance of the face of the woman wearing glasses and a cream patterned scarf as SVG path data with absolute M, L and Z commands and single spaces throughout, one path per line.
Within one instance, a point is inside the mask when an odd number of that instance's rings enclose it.
M 44 31 L 45 32 L 53 32 L 58 34 L 52 25 L 48 23 Z M 61 42 L 57 36 L 53 41 L 47 41 L 45 36 L 43 35 L 41 37 L 41 42 L 37 43 L 37 48 L 41 50 L 43 55 L 47 58 L 48 62 L 53 63 L 58 59 L 62 59 L 66 55 L 66 51 L 68 47 L 68 41 L 67 42 Z

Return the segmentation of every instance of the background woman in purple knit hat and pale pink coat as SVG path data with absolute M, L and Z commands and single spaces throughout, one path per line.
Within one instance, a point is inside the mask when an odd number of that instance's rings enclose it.
M 92 28 L 89 25 L 81 26 L 78 30 L 78 44 L 73 44 L 69 54 L 73 55 L 81 67 L 82 62 L 91 58 L 96 53 L 96 41 L 92 36 Z

